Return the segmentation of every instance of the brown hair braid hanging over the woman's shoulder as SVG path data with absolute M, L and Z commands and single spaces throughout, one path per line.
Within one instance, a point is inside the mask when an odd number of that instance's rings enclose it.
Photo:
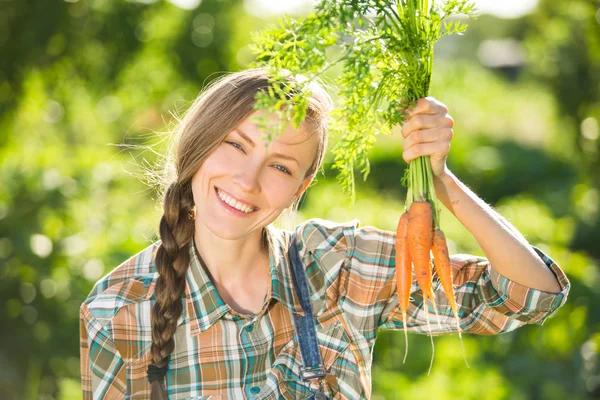
M 164 198 L 164 214 L 160 220 L 161 244 L 156 251 L 156 304 L 152 308 L 152 363 L 166 371 L 175 348 L 173 336 L 177 319 L 183 312 L 181 297 L 185 291 L 185 272 L 189 265 L 188 243 L 194 235 L 191 185 L 172 183 Z M 152 379 L 152 399 L 166 399 L 164 379 Z

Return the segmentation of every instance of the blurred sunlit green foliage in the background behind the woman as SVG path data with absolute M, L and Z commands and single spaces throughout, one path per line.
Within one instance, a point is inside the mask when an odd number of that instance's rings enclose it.
M 252 4 L 247 2 L 247 4 Z M 567 272 L 567 304 L 544 326 L 492 337 L 382 332 L 376 399 L 600 396 L 600 4 L 542 0 L 530 15 L 482 16 L 438 43 L 431 94 L 456 121 L 450 168 Z M 252 10 L 250 10 L 252 11 Z M 160 205 L 143 166 L 163 132 L 222 71 L 251 61 L 267 19 L 241 0 L 0 2 L 0 398 L 77 399 L 79 305 L 103 274 L 156 239 Z M 484 44 L 512 39 L 519 64 Z M 505 58 L 506 59 L 506 58 Z M 335 72 L 335 71 L 334 71 Z M 127 144 L 129 147 L 120 147 Z M 310 217 L 393 230 L 405 193 L 398 133 L 381 136 L 347 208 L 325 169 Z M 327 166 L 332 162 L 327 159 Z M 452 253 L 482 254 L 446 210 Z

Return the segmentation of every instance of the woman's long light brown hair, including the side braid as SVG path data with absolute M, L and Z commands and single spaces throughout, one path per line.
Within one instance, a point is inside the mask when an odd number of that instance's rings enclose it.
M 166 368 L 175 347 L 173 336 L 177 319 L 183 311 L 181 296 L 185 290 L 185 273 L 189 265 L 188 244 L 194 236 L 194 221 L 189 218 L 194 207 L 191 180 L 202 163 L 225 137 L 254 109 L 255 95 L 270 86 L 264 68 L 248 69 L 224 75 L 204 90 L 186 111 L 176 128 L 165 165 L 160 220 L 161 243 L 155 253 L 159 278 L 156 283 L 156 304 L 152 309 L 152 362 Z M 292 77 L 288 77 L 292 80 Z M 312 179 L 321 168 L 327 149 L 327 116 L 333 102 L 321 84 L 309 86 L 310 98 L 304 125 L 318 135 L 315 158 L 304 179 Z M 290 95 L 293 95 L 291 93 Z M 285 212 L 294 213 L 299 196 Z M 283 214 L 283 213 L 282 213 Z M 289 219 L 288 219 L 289 223 Z M 272 245 L 268 229 L 264 236 Z M 166 399 L 163 383 L 152 382 L 152 399 Z

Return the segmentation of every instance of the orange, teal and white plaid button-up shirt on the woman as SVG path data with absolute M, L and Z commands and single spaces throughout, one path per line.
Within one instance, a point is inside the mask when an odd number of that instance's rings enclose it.
M 395 233 L 359 228 L 357 220 L 311 219 L 296 227 L 316 319 L 317 339 L 329 370 L 332 398 L 370 398 L 371 351 L 378 329 L 403 329 L 395 277 Z M 271 287 L 257 315 L 232 310 L 219 296 L 189 244 L 190 268 L 166 376 L 170 399 L 300 399 L 316 384 L 299 379 L 302 358 L 292 312 L 302 313 L 285 257 L 289 231 L 269 227 Z M 81 376 L 85 399 L 148 398 L 150 310 L 158 274 L 154 243 L 102 278 L 81 306 Z M 497 334 L 544 320 L 567 300 L 570 284 L 558 265 L 535 249 L 561 292 L 524 287 L 500 275 L 482 257 L 453 255 L 455 294 L 464 332 Z M 456 331 L 440 282 L 434 334 Z M 422 296 L 411 288 L 408 330 L 427 333 Z M 440 327 L 441 325 L 441 327 Z

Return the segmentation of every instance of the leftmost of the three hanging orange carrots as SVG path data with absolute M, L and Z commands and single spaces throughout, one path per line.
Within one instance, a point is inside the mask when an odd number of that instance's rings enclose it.
M 402 311 L 402 322 L 404 324 L 404 360 L 408 354 L 408 330 L 406 328 L 406 312 L 410 302 L 410 287 L 412 285 L 412 261 L 408 253 L 406 233 L 408 231 L 408 214 L 402 213 L 398 226 L 396 227 L 396 284 L 398 287 L 398 302 Z

